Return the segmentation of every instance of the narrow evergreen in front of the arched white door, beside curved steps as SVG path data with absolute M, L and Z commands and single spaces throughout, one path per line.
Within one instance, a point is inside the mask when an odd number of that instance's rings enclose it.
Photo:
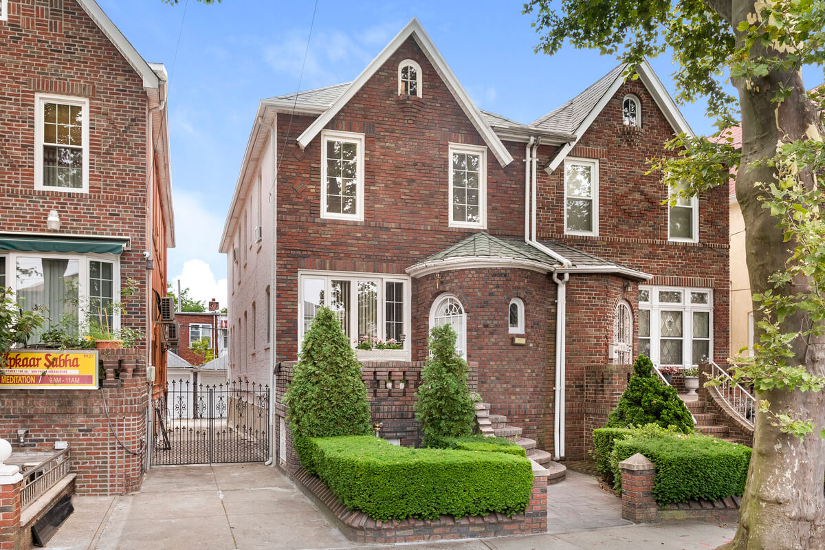
M 475 406 L 467 386 L 467 362 L 455 352 L 455 331 L 450 325 L 430 332 L 430 359 L 424 365 L 416 393 L 416 418 L 427 440 L 473 433 Z

